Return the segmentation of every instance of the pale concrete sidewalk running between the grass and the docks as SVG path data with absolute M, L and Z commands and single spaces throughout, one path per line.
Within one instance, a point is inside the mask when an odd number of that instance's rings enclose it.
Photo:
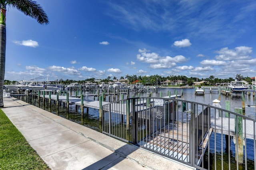
M 52 170 L 192 169 L 16 98 L 2 110 Z

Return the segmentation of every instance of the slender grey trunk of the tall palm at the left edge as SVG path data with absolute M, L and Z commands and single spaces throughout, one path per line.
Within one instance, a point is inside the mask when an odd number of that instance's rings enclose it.
M 6 51 L 6 26 L 0 24 L 0 107 L 4 107 L 4 72 L 5 72 L 5 51 Z

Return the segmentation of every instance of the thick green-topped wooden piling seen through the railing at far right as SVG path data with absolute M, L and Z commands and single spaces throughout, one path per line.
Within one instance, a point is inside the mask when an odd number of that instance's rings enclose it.
M 242 115 L 241 108 L 235 108 L 235 113 Z M 243 139 L 243 120 L 242 117 L 235 116 L 235 134 L 236 134 L 236 161 L 243 164 L 244 161 L 244 139 Z

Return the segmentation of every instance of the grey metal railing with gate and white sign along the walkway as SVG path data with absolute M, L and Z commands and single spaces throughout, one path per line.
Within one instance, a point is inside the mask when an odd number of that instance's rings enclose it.
M 256 119 L 175 98 L 102 106 L 102 133 L 196 169 L 256 169 Z

